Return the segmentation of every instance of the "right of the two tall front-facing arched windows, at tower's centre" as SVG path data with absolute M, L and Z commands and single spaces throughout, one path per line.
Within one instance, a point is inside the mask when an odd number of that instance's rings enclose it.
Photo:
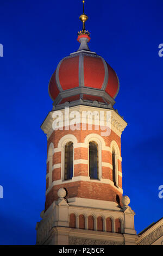
M 91 179 L 98 179 L 98 145 L 89 143 L 89 175 Z

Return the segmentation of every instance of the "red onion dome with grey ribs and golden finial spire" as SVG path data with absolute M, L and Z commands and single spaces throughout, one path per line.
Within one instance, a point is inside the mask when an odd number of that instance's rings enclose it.
M 79 17 L 83 22 L 82 31 L 78 32 L 80 42 L 78 51 L 60 60 L 51 77 L 48 91 L 54 107 L 66 102 L 71 105 L 100 103 L 114 105 L 119 90 L 116 72 L 98 54 L 91 52 L 87 43 L 90 33 L 85 30 L 88 17 L 84 13 Z

